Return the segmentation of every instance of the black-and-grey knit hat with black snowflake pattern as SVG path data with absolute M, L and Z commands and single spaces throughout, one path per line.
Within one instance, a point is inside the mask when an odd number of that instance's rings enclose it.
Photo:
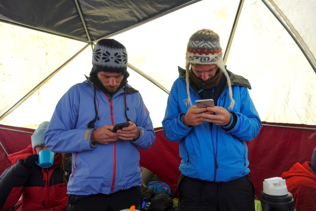
M 101 71 L 123 73 L 125 78 L 130 75 L 126 48 L 115 39 L 101 39 L 94 47 L 90 76 Z

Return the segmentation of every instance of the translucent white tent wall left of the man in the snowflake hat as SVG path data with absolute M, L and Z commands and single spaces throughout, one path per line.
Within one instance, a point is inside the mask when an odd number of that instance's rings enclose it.
M 72 39 L 0 23 L 1 31 L 1 111 L 7 110 L 55 69 L 79 51 L 85 43 Z M 52 112 L 72 84 L 83 81 L 84 67 L 90 67 L 87 48 L 62 71 L 53 76 L 30 98 L 1 121 L 1 124 L 36 128 L 50 120 Z M 90 67 L 91 69 L 91 67 Z

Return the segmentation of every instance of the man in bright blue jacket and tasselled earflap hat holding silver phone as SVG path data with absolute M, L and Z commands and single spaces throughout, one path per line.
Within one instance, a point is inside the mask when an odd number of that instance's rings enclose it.
M 167 139 L 179 141 L 182 211 L 255 210 L 246 141 L 258 136 L 261 120 L 248 80 L 227 70 L 222 55 L 214 31 L 191 35 L 162 121 Z M 215 106 L 197 108 L 200 99 Z

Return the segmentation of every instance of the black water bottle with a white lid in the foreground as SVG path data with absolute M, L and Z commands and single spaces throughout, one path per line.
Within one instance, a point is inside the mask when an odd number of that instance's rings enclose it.
M 292 194 L 281 177 L 264 179 L 260 201 L 262 211 L 296 211 Z

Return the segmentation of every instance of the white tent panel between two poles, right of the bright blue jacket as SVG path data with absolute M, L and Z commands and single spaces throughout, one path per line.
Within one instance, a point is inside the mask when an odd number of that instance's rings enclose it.
M 226 64 L 250 81 L 263 121 L 316 124 L 316 74 L 261 1 L 245 1 Z

